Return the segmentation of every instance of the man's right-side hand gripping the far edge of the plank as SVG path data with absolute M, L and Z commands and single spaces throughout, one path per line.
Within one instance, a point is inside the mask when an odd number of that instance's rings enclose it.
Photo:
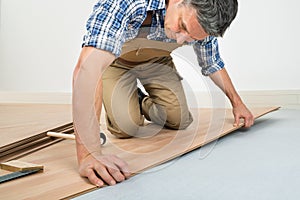
M 254 124 L 254 117 L 250 110 L 245 106 L 245 104 L 241 103 L 237 106 L 234 106 L 232 112 L 234 116 L 233 126 L 238 126 L 240 124 L 241 118 L 244 119 L 244 126 L 246 128 L 249 128 Z

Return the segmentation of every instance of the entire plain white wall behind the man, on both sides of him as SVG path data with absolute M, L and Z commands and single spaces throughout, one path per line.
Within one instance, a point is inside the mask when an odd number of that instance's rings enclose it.
M 0 91 L 70 92 L 95 0 L 1 1 Z M 220 39 L 221 55 L 237 89 L 299 90 L 299 1 L 239 2 L 237 19 Z M 174 54 L 196 63 L 190 47 Z M 193 71 L 177 60 L 179 70 Z M 185 78 L 194 82 L 195 90 L 203 90 L 197 87 L 197 76 Z

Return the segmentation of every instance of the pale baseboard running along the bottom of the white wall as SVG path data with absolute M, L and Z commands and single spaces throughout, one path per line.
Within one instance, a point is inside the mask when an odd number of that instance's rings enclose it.
M 212 105 L 215 94 L 207 92 L 186 92 L 192 107 L 230 107 L 224 95 L 217 94 L 217 101 Z M 280 106 L 287 109 L 300 109 L 300 90 L 268 90 L 240 91 L 244 102 L 251 107 Z M 195 101 L 196 100 L 196 101 Z M 71 104 L 71 93 L 41 93 L 41 92 L 0 92 L 0 103 L 45 103 Z M 196 103 L 195 103 L 196 102 Z

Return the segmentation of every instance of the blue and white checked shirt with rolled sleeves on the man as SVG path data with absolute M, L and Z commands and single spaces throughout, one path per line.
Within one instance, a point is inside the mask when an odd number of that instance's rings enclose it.
M 153 12 L 147 39 L 176 42 L 164 31 L 165 6 L 165 0 L 100 0 L 87 21 L 83 46 L 103 49 L 119 57 L 123 44 L 137 37 L 147 11 Z M 194 48 L 203 75 L 224 68 L 216 37 L 208 36 L 188 44 Z

